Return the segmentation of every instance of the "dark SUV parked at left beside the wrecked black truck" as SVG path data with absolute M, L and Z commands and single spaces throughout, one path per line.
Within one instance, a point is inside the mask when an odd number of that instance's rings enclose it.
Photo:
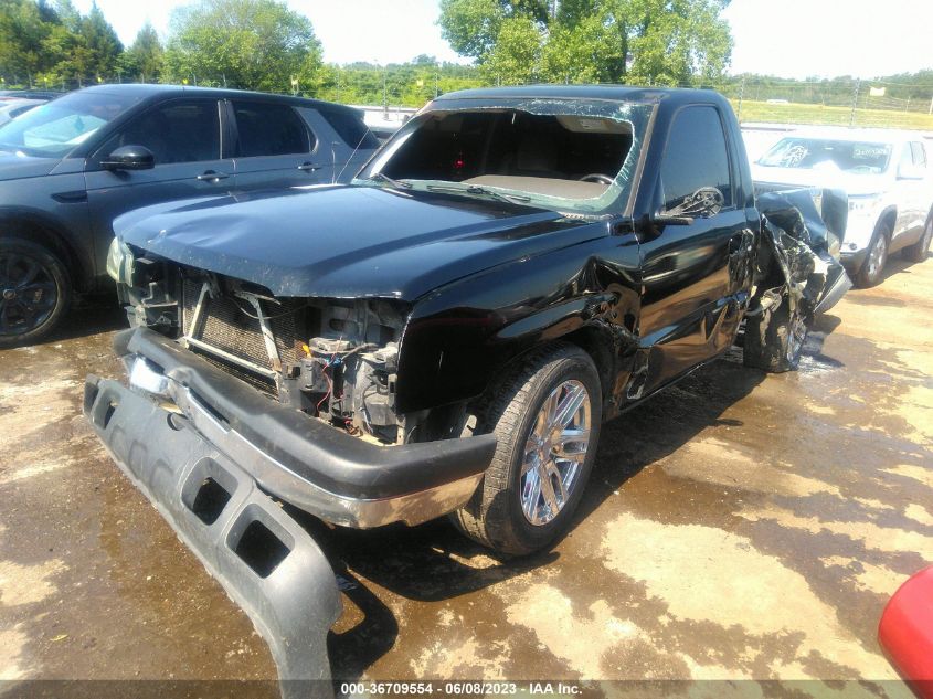
M 170 85 L 102 85 L 0 128 L 0 347 L 105 288 L 113 220 L 176 199 L 348 181 L 378 146 L 356 109 Z

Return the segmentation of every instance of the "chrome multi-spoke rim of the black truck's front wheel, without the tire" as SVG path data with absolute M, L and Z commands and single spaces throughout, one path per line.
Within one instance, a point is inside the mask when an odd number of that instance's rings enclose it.
M 552 521 L 570 500 L 586 459 L 592 427 L 590 394 L 580 381 L 564 381 L 541 406 L 524 446 L 520 498 L 534 526 Z

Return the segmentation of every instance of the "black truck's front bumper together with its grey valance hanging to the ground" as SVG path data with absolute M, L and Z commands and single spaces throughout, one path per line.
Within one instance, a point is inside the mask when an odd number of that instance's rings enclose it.
M 491 435 L 380 447 L 279 405 L 140 328 L 130 386 L 89 375 L 84 413 L 110 456 L 266 639 L 285 697 L 332 693 L 333 571 L 272 496 L 338 525 L 418 523 L 466 502 Z

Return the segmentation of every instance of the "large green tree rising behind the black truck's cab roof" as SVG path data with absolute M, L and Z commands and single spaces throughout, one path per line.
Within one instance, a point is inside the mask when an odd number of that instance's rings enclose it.
M 453 49 L 497 84 L 714 82 L 729 0 L 441 0 Z

